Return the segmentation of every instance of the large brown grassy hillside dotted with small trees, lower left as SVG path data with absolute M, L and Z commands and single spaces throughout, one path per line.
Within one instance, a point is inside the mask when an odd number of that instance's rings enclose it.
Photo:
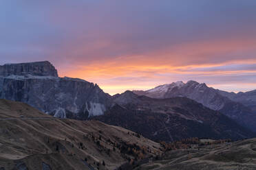
M 118 169 L 156 156 L 160 148 L 122 127 L 58 119 L 28 104 L 0 99 L 1 170 Z

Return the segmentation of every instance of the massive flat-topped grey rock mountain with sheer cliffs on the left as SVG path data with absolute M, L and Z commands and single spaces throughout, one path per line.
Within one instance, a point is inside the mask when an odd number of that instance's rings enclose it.
M 47 61 L 0 66 L 0 98 L 25 102 L 54 117 L 75 119 L 103 114 L 111 106 L 111 96 L 97 84 L 58 77 Z

